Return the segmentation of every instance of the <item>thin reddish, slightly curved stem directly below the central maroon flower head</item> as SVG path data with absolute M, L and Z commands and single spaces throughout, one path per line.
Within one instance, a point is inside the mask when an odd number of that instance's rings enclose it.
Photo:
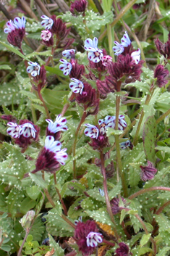
M 81 128 L 81 125 L 82 123 L 85 121 L 85 117 L 86 117 L 87 113 L 86 113 L 86 107 L 85 107 L 85 110 L 82 114 L 82 118 L 80 120 L 80 123 L 76 129 L 76 132 L 75 132 L 75 141 L 73 143 L 73 146 L 72 146 L 72 155 L 73 155 L 73 178 L 77 178 L 77 171 L 76 171 L 76 159 L 75 159 L 75 151 L 76 151 L 76 144 L 77 144 L 77 137 L 78 137 L 78 133 L 80 131 L 80 128 Z

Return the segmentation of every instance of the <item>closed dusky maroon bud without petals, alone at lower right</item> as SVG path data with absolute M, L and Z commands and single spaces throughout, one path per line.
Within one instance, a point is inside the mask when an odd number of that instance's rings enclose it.
M 157 169 L 154 168 L 153 163 L 148 161 L 146 166 L 140 165 L 140 178 L 142 181 L 152 180 L 155 177 Z

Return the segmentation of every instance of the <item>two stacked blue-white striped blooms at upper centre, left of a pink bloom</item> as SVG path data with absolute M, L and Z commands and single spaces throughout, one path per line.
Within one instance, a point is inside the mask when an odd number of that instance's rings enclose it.
M 100 62 L 103 58 L 103 51 L 98 49 L 98 38 L 93 38 L 90 39 L 86 39 L 85 40 L 85 51 L 89 51 L 88 52 L 88 58 L 92 61 L 92 62 Z

